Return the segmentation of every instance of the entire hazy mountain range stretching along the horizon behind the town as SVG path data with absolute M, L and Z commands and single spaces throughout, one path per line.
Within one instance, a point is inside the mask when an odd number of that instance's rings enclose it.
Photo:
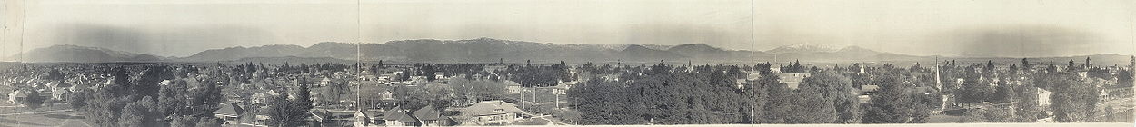
M 393 62 L 658 62 L 696 61 L 708 64 L 757 61 L 815 61 L 815 62 L 863 62 L 863 61 L 932 61 L 938 56 L 910 56 L 875 51 L 860 46 L 832 46 L 819 44 L 793 44 L 767 51 L 726 50 L 707 44 L 563 44 L 510 41 L 498 39 L 473 40 L 402 40 L 386 43 L 361 43 L 357 56 L 354 43 L 321 42 L 311 46 L 262 45 L 212 49 L 189 57 L 158 57 L 102 48 L 56 45 L 36 49 L 24 56 L 34 62 L 114 62 L 114 61 L 365 61 L 386 60 Z M 18 56 L 12 56 L 16 58 Z M 1100 60 L 1127 61 L 1127 56 L 1094 54 L 1074 57 L 1051 57 L 1045 59 L 1068 60 L 1084 57 L 1101 57 Z M 10 59 L 11 59 L 10 58 Z M 938 57 L 939 59 L 1010 60 L 1020 58 L 997 57 Z M 1039 58 L 1042 59 L 1042 58 Z

